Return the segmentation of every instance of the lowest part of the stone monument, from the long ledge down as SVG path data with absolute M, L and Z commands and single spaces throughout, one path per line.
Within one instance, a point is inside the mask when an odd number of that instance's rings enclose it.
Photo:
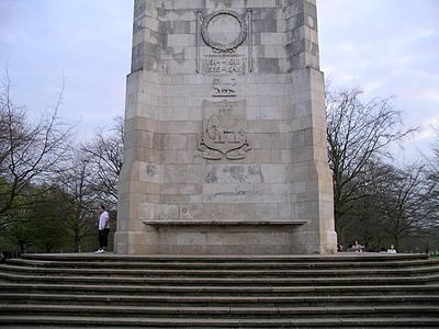
M 144 232 L 117 232 L 117 253 L 312 254 L 334 253 L 336 235 L 304 232 L 303 220 L 145 220 Z M 315 241 L 325 241 L 316 245 Z

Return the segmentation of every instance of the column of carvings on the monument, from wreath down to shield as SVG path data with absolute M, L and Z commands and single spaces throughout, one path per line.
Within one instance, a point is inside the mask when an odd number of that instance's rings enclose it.
M 236 97 L 237 76 L 252 69 L 251 11 L 240 14 L 219 10 L 209 15 L 198 12 L 196 33 L 196 71 L 206 78 L 211 77 L 212 97 Z M 246 39 L 247 63 L 245 48 L 238 52 Z M 203 49 L 201 58 L 202 41 L 211 50 Z M 245 100 L 203 101 L 202 127 L 198 148 L 205 159 L 243 159 L 250 149 L 246 134 Z

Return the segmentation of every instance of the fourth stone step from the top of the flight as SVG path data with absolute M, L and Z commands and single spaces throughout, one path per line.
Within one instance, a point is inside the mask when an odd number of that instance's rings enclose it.
M 1 268 L 0 268 L 1 270 Z M 65 284 L 117 284 L 117 285 L 145 285 L 145 284 L 175 284 L 175 285 L 417 285 L 417 284 L 435 284 L 439 283 L 439 275 L 423 276 L 372 276 L 364 273 L 362 276 L 349 277 L 196 277 L 196 276 L 150 276 L 150 277 L 133 277 L 133 276 L 74 276 L 74 275 L 33 275 L 33 274 L 11 274 L 0 271 L 0 280 L 10 282 L 33 282 L 33 283 L 65 283 Z

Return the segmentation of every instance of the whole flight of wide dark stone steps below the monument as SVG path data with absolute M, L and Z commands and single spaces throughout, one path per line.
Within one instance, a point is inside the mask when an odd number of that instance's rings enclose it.
M 0 265 L 1 326 L 439 328 L 439 260 L 24 254 Z

